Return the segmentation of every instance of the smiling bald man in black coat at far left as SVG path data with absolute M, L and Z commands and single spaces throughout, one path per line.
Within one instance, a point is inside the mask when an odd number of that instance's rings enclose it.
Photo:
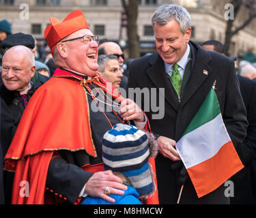
M 35 74 L 35 58 L 26 46 L 14 46 L 3 55 L 1 97 L 1 146 L 3 156 L 8 151 L 18 127 L 20 117 L 38 87 L 31 83 Z M 5 204 L 12 196 L 11 172 L 4 172 Z

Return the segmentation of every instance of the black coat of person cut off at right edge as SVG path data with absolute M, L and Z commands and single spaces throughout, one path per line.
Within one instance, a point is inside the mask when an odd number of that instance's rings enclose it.
M 240 75 L 238 80 L 246 107 L 248 128 L 247 136 L 238 151 L 244 168 L 231 178 L 234 184 L 231 204 L 256 204 L 256 196 L 253 196 L 253 189 L 256 191 L 256 82 Z

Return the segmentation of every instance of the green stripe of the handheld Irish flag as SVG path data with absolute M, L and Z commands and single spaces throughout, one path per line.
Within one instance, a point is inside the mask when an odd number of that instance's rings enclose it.
M 221 113 L 220 106 L 218 105 L 218 98 L 214 89 L 210 89 L 207 97 L 205 98 L 203 104 L 195 114 L 194 118 L 186 128 L 184 135 L 188 134 L 190 131 L 201 127 L 205 123 L 212 121 L 218 114 Z

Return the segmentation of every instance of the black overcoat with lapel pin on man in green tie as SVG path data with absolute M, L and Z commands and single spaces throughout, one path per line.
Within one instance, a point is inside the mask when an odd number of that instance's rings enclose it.
M 246 136 L 248 123 L 234 63 L 224 55 L 203 50 L 195 42 L 190 42 L 190 48 L 192 52 L 190 76 L 186 86 L 182 88 L 183 93 L 181 92 L 181 95 L 183 97 L 180 102 L 165 72 L 164 62 L 158 53 L 132 61 L 129 67 L 128 88 L 165 89 L 164 94 L 158 90 L 156 97 L 151 96 L 151 93 L 150 96 L 144 95 L 141 101 L 141 108 L 147 114 L 152 131 L 155 134 L 166 136 L 177 142 L 208 95 L 214 80 L 216 80 L 216 94 L 221 106 L 223 120 L 233 144 L 238 147 Z M 207 71 L 206 74 L 203 74 L 204 69 Z M 128 97 L 132 96 L 129 95 Z M 136 102 L 135 98 L 134 100 Z M 155 102 L 152 102 L 155 100 L 157 102 L 160 101 L 160 107 L 165 108 L 165 114 L 162 119 L 152 119 L 152 114 L 157 112 L 154 113 L 152 108 L 150 110 L 145 108 L 145 104 L 148 104 L 148 102 L 150 102 L 150 106 L 152 104 L 155 105 Z M 171 170 L 171 163 L 173 161 L 160 154 L 156 157 L 156 176 L 158 178 L 160 204 L 175 204 L 180 192 L 180 185 L 177 182 L 180 172 Z M 187 183 L 189 184 L 187 185 Z M 184 186 L 181 202 L 227 202 L 225 199 L 223 201 L 218 199 L 219 195 L 214 195 L 214 191 L 212 193 L 198 200 L 193 185 L 188 181 Z M 221 191 L 221 198 L 224 196 L 223 193 L 224 190 Z M 212 198 L 208 197 L 211 195 L 213 195 Z M 215 199 L 215 201 L 212 201 L 212 199 Z

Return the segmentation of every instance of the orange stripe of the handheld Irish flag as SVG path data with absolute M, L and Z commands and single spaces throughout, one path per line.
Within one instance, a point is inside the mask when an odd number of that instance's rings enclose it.
M 242 168 L 244 166 L 230 141 L 224 144 L 216 155 L 188 168 L 187 171 L 198 198 L 201 198 L 221 186 Z

